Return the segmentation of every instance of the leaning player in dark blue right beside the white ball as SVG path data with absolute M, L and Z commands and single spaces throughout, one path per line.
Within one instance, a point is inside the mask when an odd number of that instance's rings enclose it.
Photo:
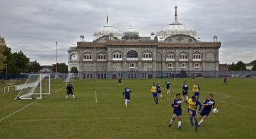
M 202 105 L 204 106 L 202 111 L 199 114 L 199 118 L 201 119 L 201 121 L 199 121 L 199 124 L 203 123 L 203 121 L 205 121 L 206 118 L 208 118 L 210 112 L 212 111 L 212 109 L 214 109 L 214 105 L 215 105 L 215 101 L 212 99 L 213 94 L 209 94 L 208 99 L 205 99 L 202 103 Z

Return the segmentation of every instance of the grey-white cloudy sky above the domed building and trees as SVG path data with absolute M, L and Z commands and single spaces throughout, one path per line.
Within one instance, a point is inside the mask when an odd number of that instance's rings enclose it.
M 22 51 L 41 65 L 66 63 L 67 50 L 84 35 L 106 24 L 121 32 L 130 25 L 140 36 L 150 36 L 178 20 L 212 42 L 222 42 L 220 63 L 231 64 L 256 59 L 256 1 L 232 0 L 0 0 L 0 35 L 12 52 Z

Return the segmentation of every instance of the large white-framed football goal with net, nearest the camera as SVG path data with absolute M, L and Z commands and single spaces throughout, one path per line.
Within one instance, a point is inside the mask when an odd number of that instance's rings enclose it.
M 50 74 L 31 74 L 15 99 L 42 99 L 42 95 L 50 94 Z

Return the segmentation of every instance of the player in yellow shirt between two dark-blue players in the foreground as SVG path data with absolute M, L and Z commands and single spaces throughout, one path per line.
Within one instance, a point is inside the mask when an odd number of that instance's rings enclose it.
M 194 126 L 194 123 L 196 124 L 196 130 L 198 131 L 198 116 L 196 116 L 196 106 L 199 105 L 199 111 L 201 111 L 202 109 L 202 105 L 201 103 L 196 100 L 196 97 L 194 95 L 192 95 L 191 99 L 189 100 L 185 100 L 185 102 L 187 102 L 187 104 L 189 105 L 189 107 L 187 108 L 187 112 L 189 112 L 190 115 L 190 121 L 191 121 L 191 125 Z M 194 123 L 193 123 L 193 118 L 194 117 Z

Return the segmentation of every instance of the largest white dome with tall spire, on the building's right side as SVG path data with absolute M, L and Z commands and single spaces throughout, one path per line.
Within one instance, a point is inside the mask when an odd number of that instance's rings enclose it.
M 177 6 L 175 6 L 175 20 L 173 21 L 173 23 L 166 27 L 160 28 L 158 32 L 156 32 L 156 37 L 158 37 L 158 40 L 165 41 L 165 39 L 173 35 L 188 35 L 198 40 L 198 35 L 196 31 L 194 31 L 192 28 L 183 25 L 182 23 L 179 23 L 177 19 L 176 9 Z

